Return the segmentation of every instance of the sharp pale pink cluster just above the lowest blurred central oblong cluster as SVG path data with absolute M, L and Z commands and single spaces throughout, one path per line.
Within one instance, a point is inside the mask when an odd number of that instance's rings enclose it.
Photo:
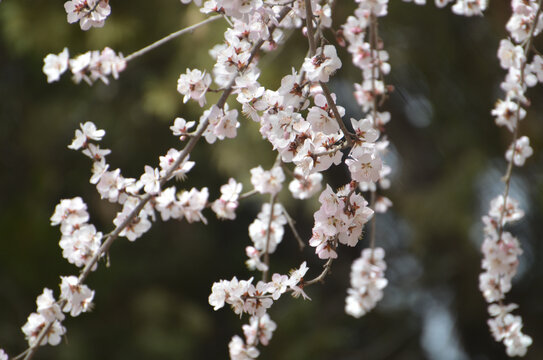
M 356 246 L 364 224 L 373 216 L 368 202 L 355 193 L 356 185 L 352 182 L 337 194 L 327 185 L 319 196 L 321 207 L 314 215 L 309 245 L 316 248 L 315 253 L 321 259 L 337 258 L 338 243 Z

